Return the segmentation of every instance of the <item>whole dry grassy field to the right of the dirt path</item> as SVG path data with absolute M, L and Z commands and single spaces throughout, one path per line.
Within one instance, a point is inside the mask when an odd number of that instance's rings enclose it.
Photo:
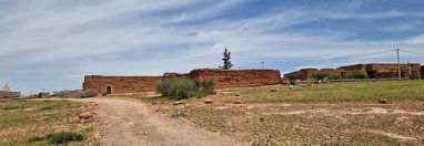
M 185 105 L 141 100 L 154 103 L 157 112 L 252 145 L 424 145 L 423 88 L 424 81 L 381 81 L 229 90 L 208 96 L 211 105 L 204 98 Z M 390 103 L 378 104 L 380 98 Z

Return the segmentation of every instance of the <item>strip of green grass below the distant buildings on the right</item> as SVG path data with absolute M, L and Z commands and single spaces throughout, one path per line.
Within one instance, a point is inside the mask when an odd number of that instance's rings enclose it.
M 269 88 L 279 88 L 279 92 L 269 92 Z M 327 83 L 316 86 L 301 87 L 295 85 L 289 90 L 285 85 L 262 86 L 253 88 L 231 90 L 238 92 L 244 103 L 320 103 L 320 102 L 367 102 L 386 98 L 424 100 L 424 81 L 375 81 Z M 234 102 L 234 96 L 218 94 L 211 96 L 226 103 Z

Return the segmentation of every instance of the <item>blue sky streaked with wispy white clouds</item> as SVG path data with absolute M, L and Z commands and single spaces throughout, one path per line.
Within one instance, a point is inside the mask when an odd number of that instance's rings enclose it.
M 30 94 L 81 88 L 91 74 L 214 69 L 224 49 L 234 69 L 264 62 L 282 73 L 395 63 L 397 48 L 415 52 L 401 52 L 402 62 L 424 63 L 423 8 L 422 0 L 0 0 L 0 85 Z

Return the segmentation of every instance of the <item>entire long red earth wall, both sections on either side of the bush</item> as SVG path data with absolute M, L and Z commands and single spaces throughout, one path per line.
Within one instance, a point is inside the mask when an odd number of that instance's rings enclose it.
M 154 92 L 157 83 L 163 77 L 190 77 L 195 80 L 212 80 L 215 88 L 251 87 L 281 83 L 277 70 L 193 70 L 190 74 L 165 73 L 163 76 L 102 76 L 87 75 L 83 90 L 93 88 L 107 94 L 107 86 L 112 87 L 112 94 Z

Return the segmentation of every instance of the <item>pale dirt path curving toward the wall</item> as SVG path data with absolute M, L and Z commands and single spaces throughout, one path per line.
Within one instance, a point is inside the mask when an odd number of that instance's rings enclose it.
M 219 133 L 193 127 L 183 119 L 153 113 L 139 101 L 113 97 L 72 101 L 93 101 L 99 104 L 98 116 L 104 119 L 100 132 L 102 145 L 248 145 Z

